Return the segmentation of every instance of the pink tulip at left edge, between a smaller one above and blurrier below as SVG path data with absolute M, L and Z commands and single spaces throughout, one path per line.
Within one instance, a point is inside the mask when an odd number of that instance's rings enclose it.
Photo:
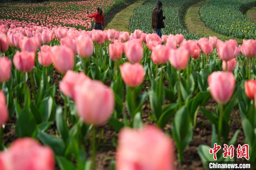
M 0 57 L 0 89 L 1 83 L 6 82 L 11 77 L 11 61 L 6 57 Z

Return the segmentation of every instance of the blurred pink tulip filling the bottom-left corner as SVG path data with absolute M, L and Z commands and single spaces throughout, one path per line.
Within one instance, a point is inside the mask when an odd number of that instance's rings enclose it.
M 0 162 L 1 170 L 55 169 L 52 149 L 32 138 L 16 139 L 11 147 L 0 152 Z

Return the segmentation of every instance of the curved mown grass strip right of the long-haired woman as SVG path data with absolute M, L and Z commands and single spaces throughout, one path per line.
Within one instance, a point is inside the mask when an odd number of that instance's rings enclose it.
M 199 9 L 207 2 L 208 0 L 200 1 L 199 3 L 194 4 L 188 8 L 185 15 L 185 24 L 187 25 L 187 29 L 202 37 L 208 38 L 209 36 L 217 36 L 218 39 L 221 40 L 236 39 L 238 43 L 242 43 L 242 39 L 234 38 L 233 36 L 218 34 L 202 22 L 202 20 L 200 19 Z

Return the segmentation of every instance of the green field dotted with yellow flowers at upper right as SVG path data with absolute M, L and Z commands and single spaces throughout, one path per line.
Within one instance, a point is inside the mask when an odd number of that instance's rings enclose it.
M 240 8 L 255 3 L 255 0 L 211 0 L 200 8 L 204 23 L 213 30 L 241 39 L 256 38 L 256 23 L 242 14 Z M 226 7 L 229 8 L 226 8 Z

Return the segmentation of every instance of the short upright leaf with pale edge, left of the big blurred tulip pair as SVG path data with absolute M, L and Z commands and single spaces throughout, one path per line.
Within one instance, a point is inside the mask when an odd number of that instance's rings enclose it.
M 51 96 L 44 98 L 39 106 L 39 113 L 43 121 L 48 121 L 52 113 L 53 99 Z

